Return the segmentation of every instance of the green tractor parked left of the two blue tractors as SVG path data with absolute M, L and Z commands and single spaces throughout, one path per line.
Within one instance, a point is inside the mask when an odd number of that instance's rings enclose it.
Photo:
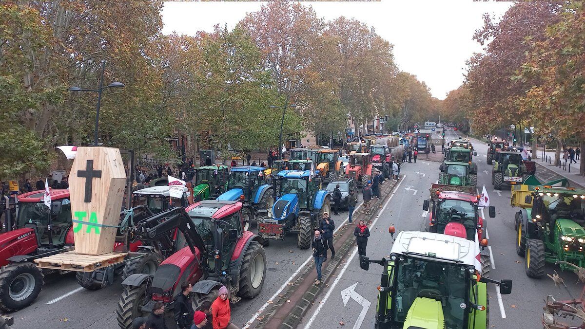
M 229 167 L 226 165 L 209 165 L 195 168 L 193 176 L 193 201 L 216 199 L 226 191 Z

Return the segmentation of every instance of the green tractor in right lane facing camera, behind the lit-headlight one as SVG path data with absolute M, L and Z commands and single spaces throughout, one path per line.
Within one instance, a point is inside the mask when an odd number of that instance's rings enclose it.
M 495 153 L 494 166 L 491 170 L 491 184 L 494 189 L 502 189 L 502 185 L 517 185 L 534 175 L 534 161 L 523 161 L 518 151 L 499 151 Z M 530 168 L 530 171 L 527 169 Z

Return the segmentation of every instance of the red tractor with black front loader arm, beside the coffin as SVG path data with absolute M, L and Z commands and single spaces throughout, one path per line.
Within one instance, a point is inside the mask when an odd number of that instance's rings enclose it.
M 135 231 L 141 240 L 156 240 L 178 228 L 187 247 L 165 259 L 154 275 L 134 274 L 122 282 L 116 309 L 120 327 L 130 328 L 133 319 L 146 316 L 155 302 L 163 302 L 172 312 L 183 282 L 193 286 L 194 310 L 205 301 L 213 302 L 222 285 L 228 288 L 231 303 L 257 296 L 266 276 L 266 254 L 263 239 L 244 230 L 244 225 L 242 203 L 229 200 L 204 200 L 141 221 Z

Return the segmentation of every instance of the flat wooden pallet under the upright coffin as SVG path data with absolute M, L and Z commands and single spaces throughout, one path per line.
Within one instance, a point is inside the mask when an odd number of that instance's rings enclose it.
M 63 271 L 92 272 L 124 261 L 127 252 L 108 252 L 104 255 L 84 255 L 75 251 L 35 259 L 38 268 L 61 269 Z

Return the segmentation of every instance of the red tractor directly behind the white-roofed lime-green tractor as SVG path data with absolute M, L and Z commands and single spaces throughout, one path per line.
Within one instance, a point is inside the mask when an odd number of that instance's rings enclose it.
M 428 211 L 432 202 L 426 231 L 447 234 L 476 241 L 480 250 L 481 275 L 489 276 L 491 259 L 487 239 L 483 241 L 487 221 L 479 216 L 480 195 L 459 191 L 435 191 L 431 199 L 424 200 L 422 210 Z M 490 218 L 495 217 L 495 207 L 488 206 Z

